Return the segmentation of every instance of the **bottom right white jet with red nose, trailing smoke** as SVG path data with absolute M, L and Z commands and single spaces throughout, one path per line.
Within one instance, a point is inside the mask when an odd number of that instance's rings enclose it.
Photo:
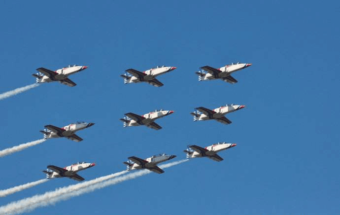
M 188 145 L 187 150 L 184 150 L 184 152 L 187 153 L 188 159 L 195 158 L 195 157 L 207 157 L 214 161 L 222 161 L 223 158 L 218 156 L 217 152 L 229 149 L 234 146 L 236 146 L 236 143 L 225 143 L 225 142 L 212 144 L 205 148 L 202 148 L 197 145 Z

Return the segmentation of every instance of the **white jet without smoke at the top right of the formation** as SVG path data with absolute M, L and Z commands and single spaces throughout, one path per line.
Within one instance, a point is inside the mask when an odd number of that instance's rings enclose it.
M 215 68 L 212 68 L 212 67 L 209 67 L 209 66 L 204 66 L 204 67 L 201 67 L 201 70 L 203 70 L 203 71 L 196 72 L 196 74 L 199 75 L 199 81 L 221 79 L 221 80 L 226 81 L 228 83 L 235 84 L 238 81 L 233 76 L 231 76 L 231 74 L 233 72 L 236 72 L 236 71 L 242 70 L 244 68 L 250 67 L 251 65 L 252 64 L 240 64 L 240 63 L 234 64 L 233 63 L 231 65 L 226 65 L 226 66 L 221 67 L 219 69 L 215 69 Z M 208 73 L 206 73 L 204 71 L 206 71 Z

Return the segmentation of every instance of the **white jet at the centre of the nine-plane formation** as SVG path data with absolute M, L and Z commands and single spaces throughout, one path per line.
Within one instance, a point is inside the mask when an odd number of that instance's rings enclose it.
M 146 113 L 142 116 L 136 114 L 136 113 L 125 113 L 125 117 L 123 119 L 120 119 L 123 121 L 123 126 L 139 126 L 139 125 L 145 125 L 149 128 L 159 130 L 162 127 L 155 123 L 154 121 L 156 119 L 162 118 L 163 116 L 167 116 L 173 113 L 173 110 L 155 110 L 153 112 Z

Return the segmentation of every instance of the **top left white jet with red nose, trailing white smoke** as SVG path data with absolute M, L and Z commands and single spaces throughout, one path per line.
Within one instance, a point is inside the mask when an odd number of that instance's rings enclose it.
M 36 83 L 59 81 L 62 84 L 74 87 L 77 84 L 68 79 L 68 75 L 83 71 L 86 68 L 86 66 L 68 65 L 68 67 L 64 67 L 56 71 L 51 71 L 41 67 L 36 69 L 38 71 L 36 74 L 32 75 L 36 77 Z

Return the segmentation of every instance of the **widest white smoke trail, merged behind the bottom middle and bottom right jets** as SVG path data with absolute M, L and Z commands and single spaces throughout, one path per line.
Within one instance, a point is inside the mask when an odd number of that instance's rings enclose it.
M 169 164 L 160 165 L 160 168 L 165 169 L 165 168 L 168 168 L 168 167 L 171 167 L 171 166 L 174 166 L 174 165 L 186 162 L 186 161 L 188 161 L 188 159 L 171 162 Z M 126 172 L 127 171 L 122 171 L 122 172 L 112 174 L 112 175 L 116 175 L 117 177 L 118 175 L 125 174 Z M 96 189 L 101 189 L 109 185 L 114 185 L 114 184 L 123 182 L 125 180 L 135 179 L 137 177 L 147 175 L 149 173 L 151 172 L 148 170 L 141 170 L 136 173 L 131 173 L 126 176 L 118 177 L 115 179 L 110 179 L 107 181 L 102 180 L 103 182 L 98 182 L 98 181 L 94 182 L 95 180 L 102 179 L 102 178 L 107 179 L 107 177 L 109 176 L 113 178 L 112 175 L 109 175 L 106 177 L 93 179 L 87 182 L 70 185 L 64 188 L 59 188 L 59 189 L 56 189 L 55 191 L 49 191 L 41 195 L 35 195 L 32 197 L 22 199 L 16 202 L 9 203 L 5 206 L 2 206 L 0 207 L 0 215 L 13 215 L 13 214 L 21 214 L 24 212 L 30 212 L 38 207 L 48 206 L 48 205 L 54 204 L 62 200 L 67 200 L 73 196 L 78 196 L 84 193 L 88 193 Z M 92 184 L 92 186 L 90 184 Z

